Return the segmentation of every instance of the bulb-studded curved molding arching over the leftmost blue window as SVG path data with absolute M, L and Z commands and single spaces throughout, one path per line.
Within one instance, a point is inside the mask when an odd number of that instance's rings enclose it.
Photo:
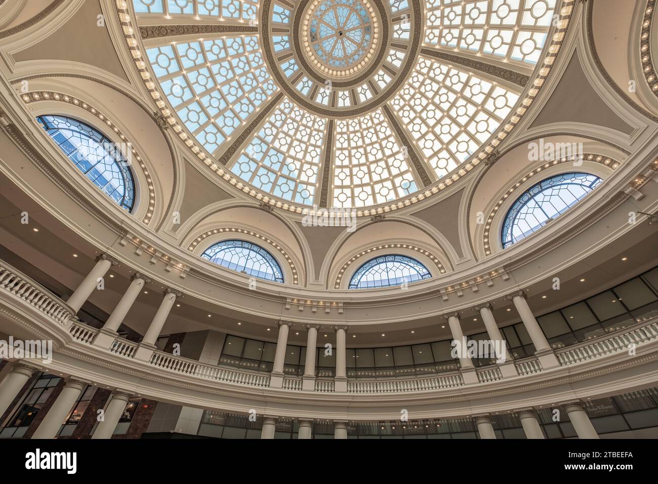
M 21 94 L 20 99 L 22 99 L 23 103 L 25 103 L 26 105 L 36 103 L 39 101 L 58 101 L 62 103 L 71 104 L 76 107 L 80 107 L 85 111 L 88 111 L 88 113 L 91 113 L 97 119 L 99 119 L 99 121 L 101 121 L 99 125 L 102 126 L 103 129 L 101 128 L 97 128 L 97 129 L 101 131 L 103 134 L 105 134 L 104 132 L 105 128 L 110 128 L 113 134 L 115 136 L 118 136 L 122 142 L 130 144 L 132 155 L 135 157 L 137 164 L 141 169 L 141 173 L 147 182 L 147 186 L 138 187 L 139 189 L 147 192 L 148 194 L 148 205 L 146 208 L 146 213 L 142 219 L 142 222 L 145 223 L 145 225 L 149 225 L 149 223 L 151 223 L 151 220 L 153 219 L 153 212 L 155 211 L 155 186 L 153 186 L 153 179 L 151 178 L 151 175 L 149 175 L 149 170 L 145 165 L 145 163 L 143 162 L 143 160 L 141 159 L 141 156 L 134 148 L 134 144 L 132 144 L 132 142 L 130 142 L 130 140 L 119 130 L 119 128 L 116 126 L 116 124 L 114 124 L 114 122 L 110 121 L 106 115 L 98 111 L 95 107 L 82 101 L 81 99 L 78 99 L 77 97 L 68 94 L 62 94 L 61 92 L 32 91 L 26 94 Z

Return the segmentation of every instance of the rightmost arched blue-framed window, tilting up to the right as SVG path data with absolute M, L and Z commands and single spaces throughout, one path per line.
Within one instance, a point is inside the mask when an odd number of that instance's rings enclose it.
M 528 188 L 505 215 L 501 240 L 503 248 L 519 242 L 546 223 L 565 213 L 603 180 L 587 173 L 551 176 Z

